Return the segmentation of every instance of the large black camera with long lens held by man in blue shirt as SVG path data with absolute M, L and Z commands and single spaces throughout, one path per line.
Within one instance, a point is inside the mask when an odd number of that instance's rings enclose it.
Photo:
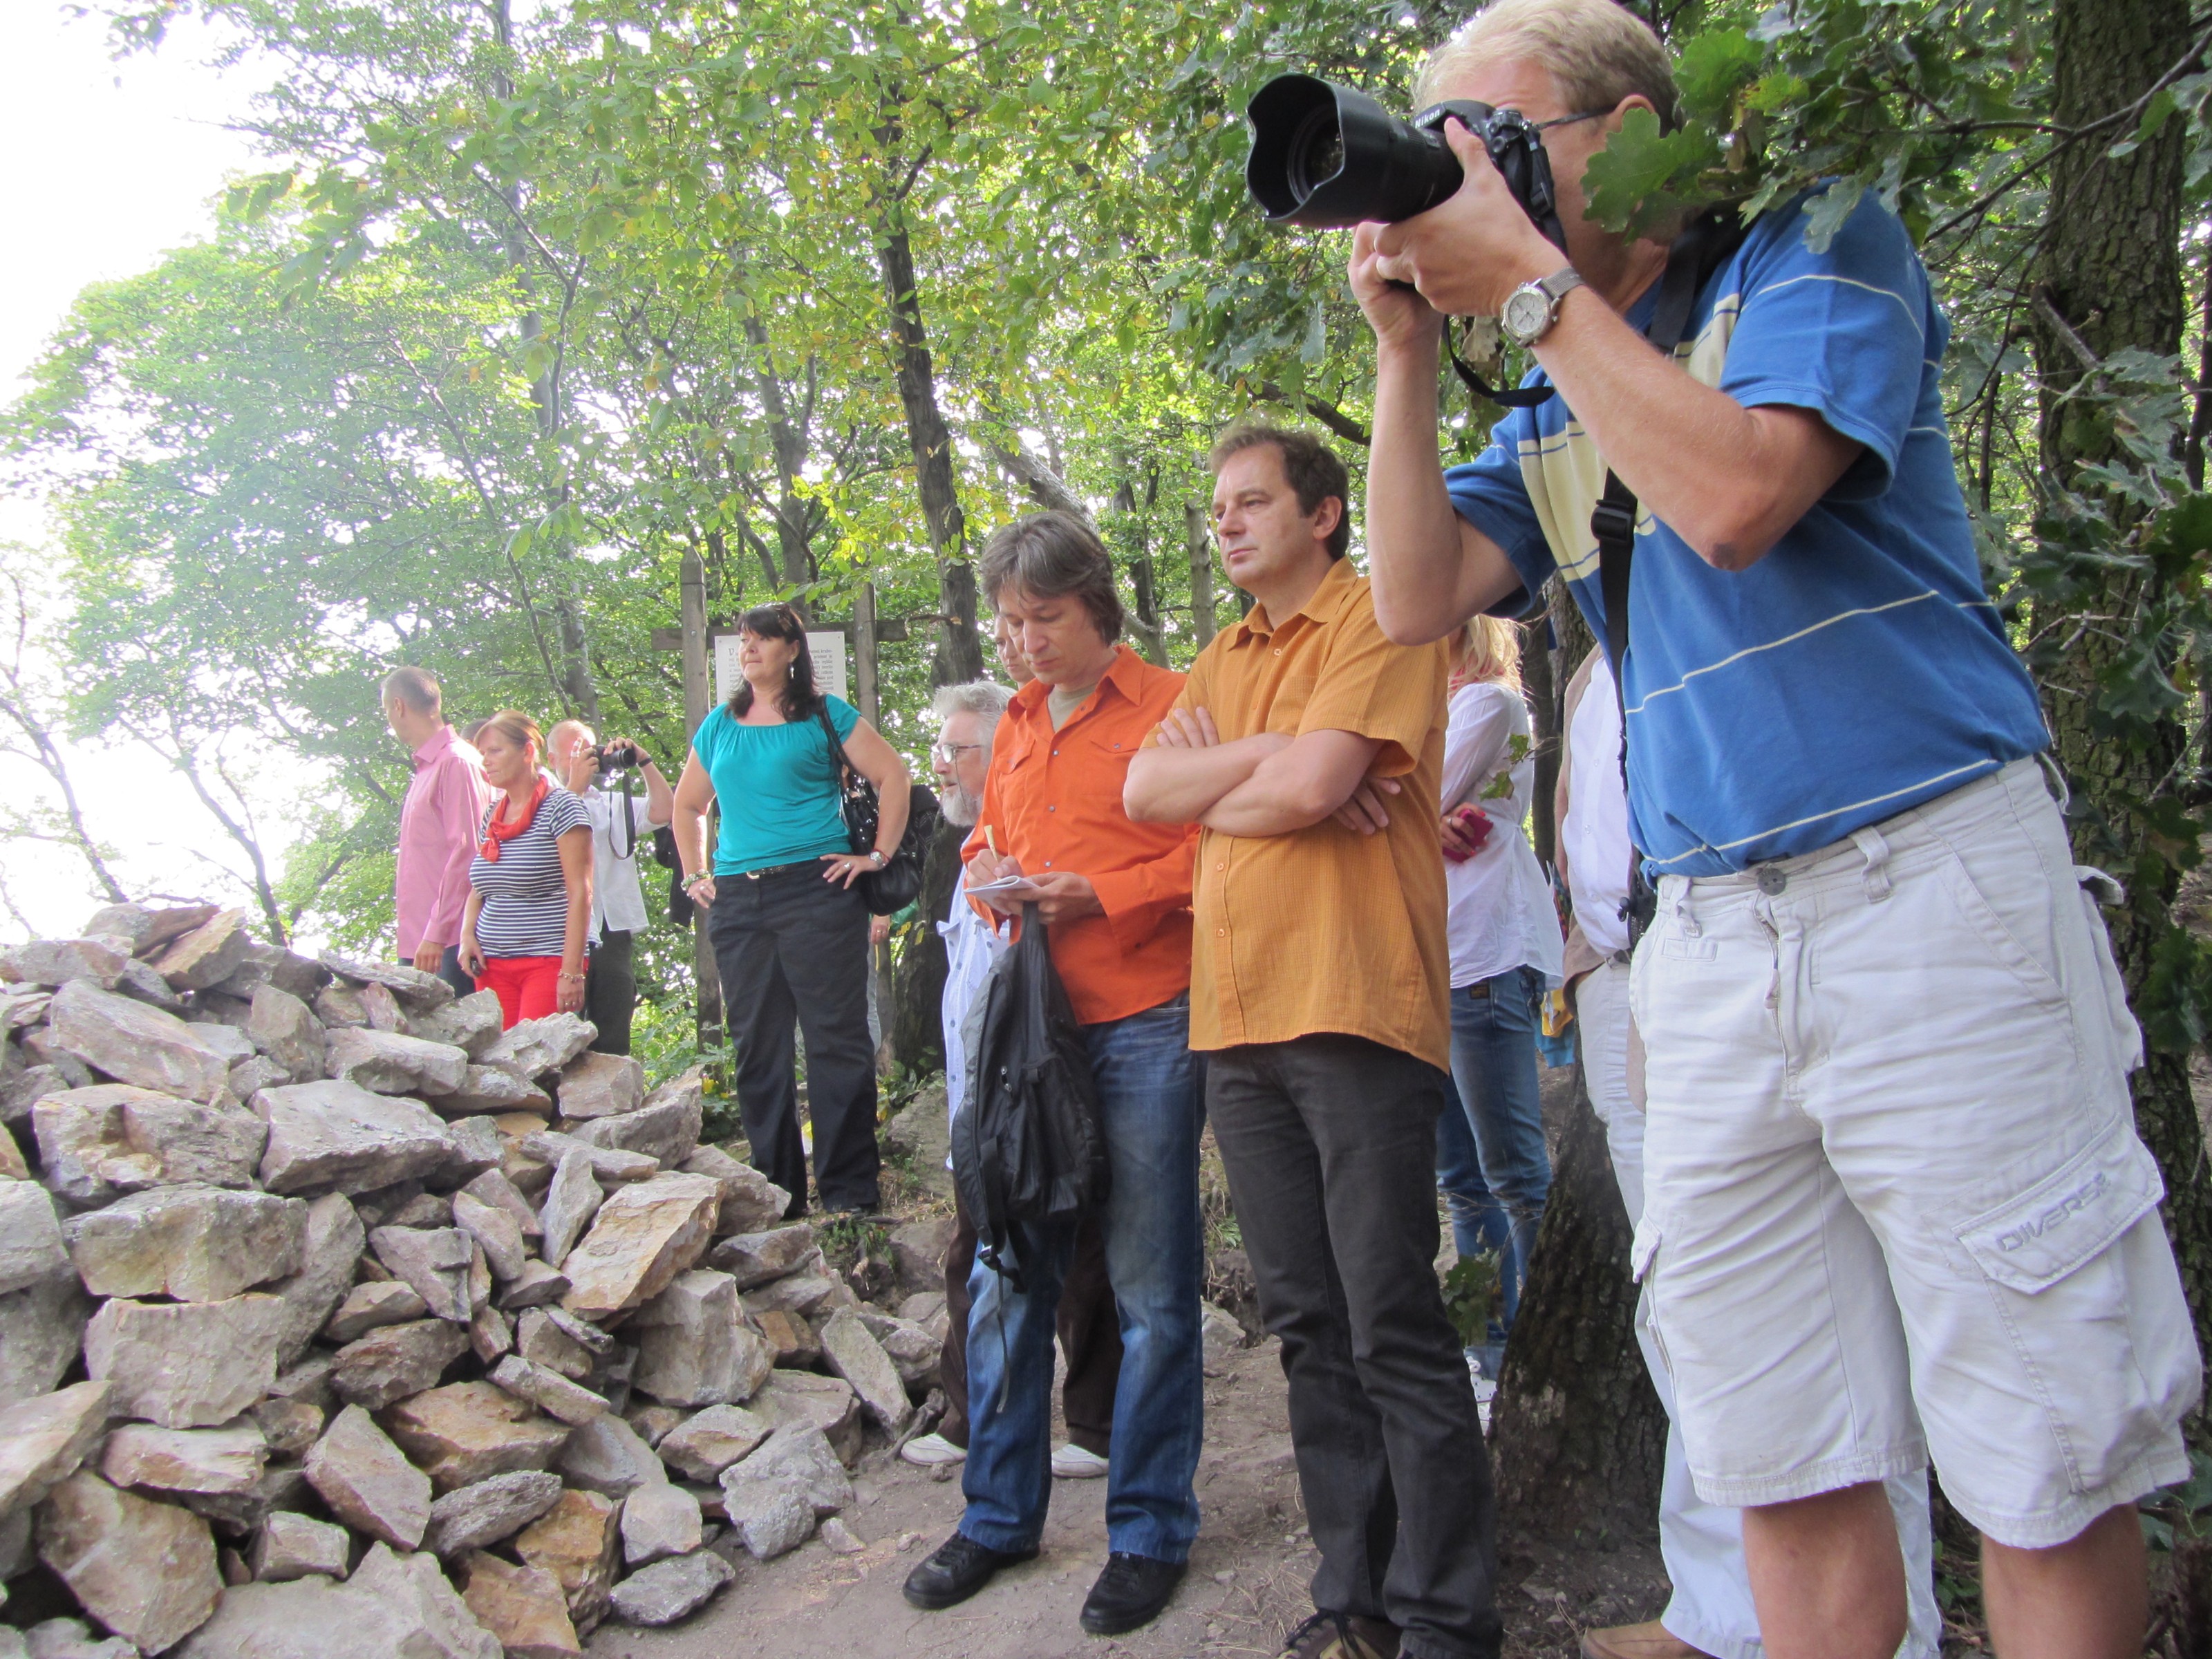
M 1402 122 L 1349 86 L 1276 75 L 1245 113 L 1252 117 L 1245 186 L 1272 226 L 1340 230 L 1427 212 L 1460 188 L 1460 157 L 1444 142 L 1444 117 L 1458 115 L 1535 228 L 1566 250 L 1544 135 L 1517 108 L 1451 100 Z

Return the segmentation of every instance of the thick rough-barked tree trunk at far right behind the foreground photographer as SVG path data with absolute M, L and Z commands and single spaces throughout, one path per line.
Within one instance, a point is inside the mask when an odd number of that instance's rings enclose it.
M 2088 126 L 2135 104 L 2172 69 L 2177 42 L 2190 27 L 2181 0 L 2057 0 L 2053 124 Z M 2086 378 L 2086 358 L 2128 347 L 2152 354 L 2181 347 L 2181 192 L 2183 135 L 2172 122 L 2119 159 L 2101 139 L 2059 150 L 2051 201 L 2066 206 L 2051 212 L 2044 228 L 2039 303 L 2031 316 L 2042 383 L 2042 465 L 2053 487 L 2075 487 L 2093 462 L 2128 462 L 2104 405 L 2062 400 Z M 2099 535 L 2115 544 L 2141 520 L 2139 509 L 2101 491 L 2095 513 Z M 2068 617 L 2130 617 L 2146 582 L 2159 577 L 2126 568 L 2084 573 L 2059 613 L 2037 604 L 2037 630 L 2064 628 Z M 2152 953 L 2172 929 L 2177 872 L 2139 856 L 2157 845 L 2139 803 L 2152 799 L 2181 761 L 2185 732 L 2177 717 L 2163 719 L 2148 745 L 2119 743 L 2099 730 L 2101 677 L 2132 644 L 2119 633 L 2079 628 L 2068 655 L 2046 675 L 2044 706 L 2057 761 L 2090 807 L 2073 818 L 2075 856 L 2130 872 L 2126 907 L 2106 916 L 2128 995 L 2141 1002 Z M 2212 1347 L 2212 1188 L 2203 1179 L 2203 1128 L 2181 1055 L 2152 1053 L 2135 1073 L 2135 1113 L 2166 1172 L 2166 1228 L 2197 1340 Z

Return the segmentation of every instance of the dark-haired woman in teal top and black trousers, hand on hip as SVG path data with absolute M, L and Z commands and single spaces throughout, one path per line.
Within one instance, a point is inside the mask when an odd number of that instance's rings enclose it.
M 752 1164 L 807 1208 L 794 1024 L 807 1035 L 814 1186 L 825 1210 L 874 1210 L 876 1053 L 867 1037 L 867 905 L 854 889 L 907 832 L 907 763 L 841 697 L 814 688 L 807 633 L 787 604 L 739 622 L 745 684 L 692 732 L 677 781 L 684 891 L 706 911 L 737 1044 L 737 1106 Z M 845 759 L 878 794 L 876 847 L 854 854 L 838 801 Z M 706 812 L 721 805 L 714 863 Z

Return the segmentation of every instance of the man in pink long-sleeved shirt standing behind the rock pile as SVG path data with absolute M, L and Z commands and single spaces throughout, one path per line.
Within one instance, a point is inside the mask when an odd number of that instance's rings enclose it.
M 416 774 L 400 805 L 398 894 L 400 960 L 440 975 L 458 995 L 476 982 L 460 971 L 460 911 L 469 900 L 469 860 L 491 805 L 484 761 L 445 723 L 438 681 L 420 668 L 394 668 L 383 684 L 385 723 L 414 750 Z

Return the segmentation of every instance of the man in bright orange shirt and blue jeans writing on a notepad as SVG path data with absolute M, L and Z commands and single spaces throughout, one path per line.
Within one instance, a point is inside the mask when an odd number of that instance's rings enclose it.
M 1121 635 L 1113 560 L 1068 513 L 998 531 L 984 597 L 1011 624 L 1035 681 L 1000 719 L 967 885 L 1026 876 L 1053 967 L 1084 1026 L 1110 1192 L 1099 1214 L 1121 1314 L 1106 1473 L 1106 1568 L 1082 1626 L 1119 1635 L 1175 1595 L 1199 1531 L 1199 1121 L 1190 1053 L 1190 860 L 1186 825 L 1121 810 L 1128 763 L 1183 688 Z M 995 896 L 1009 914 L 1020 900 Z M 1051 1500 L 1053 1314 L 1075 1225 L 1015 1225 L 1022 1290 L 978 1263 L 969 1290 L 967 1513 L 907 1577 L 907 1601 L 949 1608 L 998 1568 L 1037 1553 Z

